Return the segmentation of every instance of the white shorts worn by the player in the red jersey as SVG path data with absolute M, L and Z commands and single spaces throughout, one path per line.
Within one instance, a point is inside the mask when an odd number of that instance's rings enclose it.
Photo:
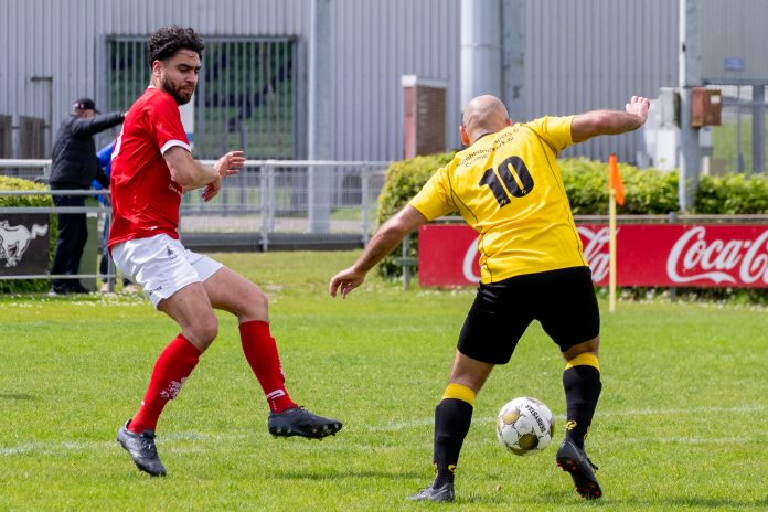
M 224 265 L 185 249 L 166 234 L 136 238 L 111 248 L 115 266 L 137 282 L 156 308 L 192 282 L 203 282 Z

